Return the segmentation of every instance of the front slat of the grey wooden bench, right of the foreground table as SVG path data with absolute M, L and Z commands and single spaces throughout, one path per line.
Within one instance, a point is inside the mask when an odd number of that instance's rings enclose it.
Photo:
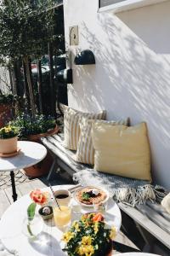
M 161 241 L 166 247 L 170 249 L 170 235 L 162 230 L 157 224 L 153 223 L 143 212 L 139 212 L 138 209 L 129 207 L 122 203 L 118 206 L 123 212 L 127 213 L 130 218 L 133 218 L 140 226 L 147 230 L 152 236 L 155 236 L 159 241 Z

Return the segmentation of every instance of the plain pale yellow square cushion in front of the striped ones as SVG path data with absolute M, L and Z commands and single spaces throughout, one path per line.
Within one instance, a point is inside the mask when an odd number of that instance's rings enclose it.
M 145 123 L 127 127 L 95 122 L 92 140 L 95 170 L 151 180 L 150 145 Z

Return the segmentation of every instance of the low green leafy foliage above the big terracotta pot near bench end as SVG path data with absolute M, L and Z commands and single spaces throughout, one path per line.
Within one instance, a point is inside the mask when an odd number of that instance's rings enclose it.
M 56 122 L 51 116 L 37 114 L 33 118 L 31 115 L 23 113 L 10 124 L 19 129 L 20 138 L 26 139 L 29 135 L 41 134 L 54 129 Z

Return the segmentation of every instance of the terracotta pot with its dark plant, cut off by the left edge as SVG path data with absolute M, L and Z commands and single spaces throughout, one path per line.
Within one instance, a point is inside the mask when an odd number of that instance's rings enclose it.
M 0 127 L 6 125 L 12 118 L 12 109 L 16 96 L 12 94 L 0 95 Z

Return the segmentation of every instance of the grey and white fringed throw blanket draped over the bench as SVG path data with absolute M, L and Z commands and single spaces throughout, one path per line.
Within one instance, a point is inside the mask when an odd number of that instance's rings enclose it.
M 156 201 L 156 196 L 163 198 L 165 190 L 150 183 L 128 177 L 120 177 L 92 169 L 83 170 L 73 175 L 73 180 L 82 186 L 99 186 L 107 189 L 116 202 L 123 202 L 135 207 L 146 200 Z

